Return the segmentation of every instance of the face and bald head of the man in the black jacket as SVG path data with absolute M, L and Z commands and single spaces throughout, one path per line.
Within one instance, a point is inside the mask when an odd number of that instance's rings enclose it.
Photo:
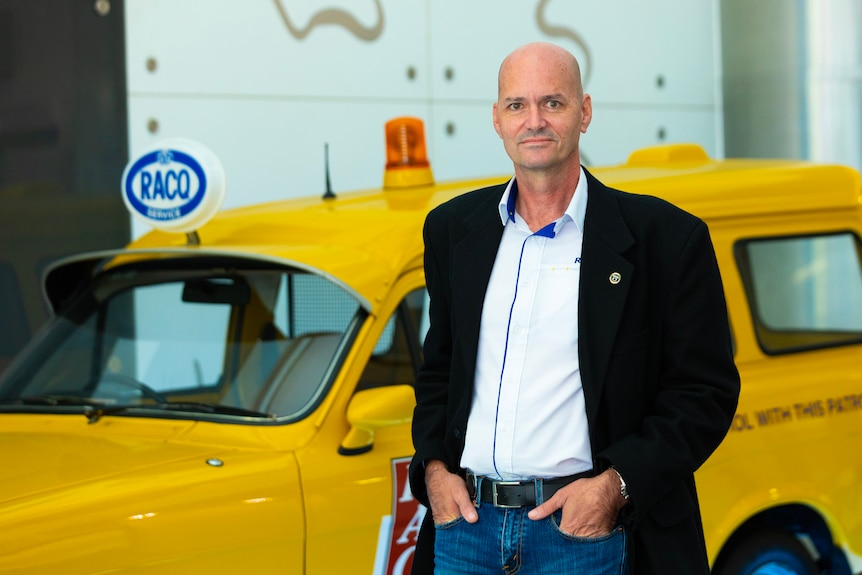
M 552 173 L 579 166 L 578 141 L 592 118 L 570 61 L 560 54 L 514 54 L 500 72 L 494 128 L 515 169 Z

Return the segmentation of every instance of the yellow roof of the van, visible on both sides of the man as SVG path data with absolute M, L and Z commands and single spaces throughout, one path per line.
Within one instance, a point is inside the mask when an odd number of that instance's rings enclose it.
M 606 185 L 659 196 L 707 222 L 761 213 L 856 209 L 859 174 L 793 160 L 713 160 L 695 145 L 645 148 L 624 164 L 588 168 Z M 186 236 L 152 231 L 129 249 L 241 255 L 329 276 L 373 311 L 404 271 L 421 266 L 422 223 L 433 207 L 510 176 L 370 189 L 224 210 Z

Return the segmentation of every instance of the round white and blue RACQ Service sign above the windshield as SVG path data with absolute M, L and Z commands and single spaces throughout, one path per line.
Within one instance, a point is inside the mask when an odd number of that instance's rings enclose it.
M 167 232 L 191 232 L 221 208 L 224 167 L 206 146 L 163 140 L 123 171 L 123 201 L 138 219 Z

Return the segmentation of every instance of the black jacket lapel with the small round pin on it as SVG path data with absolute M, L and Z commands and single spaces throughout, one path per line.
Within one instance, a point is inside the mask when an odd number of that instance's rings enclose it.
M 586 170 L 585 170 L 586 171 Z M 578 356 L 590 428 L 635 268 L 623 253 L 635 243 L 614 195 L 587 172 L 587 212 L 581 250 Z

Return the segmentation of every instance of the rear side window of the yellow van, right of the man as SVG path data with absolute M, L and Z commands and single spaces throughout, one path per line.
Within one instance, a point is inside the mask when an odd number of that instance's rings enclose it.
M 747 240 L 736 255 L 765 353 L 862 342 L 855 234 Z

